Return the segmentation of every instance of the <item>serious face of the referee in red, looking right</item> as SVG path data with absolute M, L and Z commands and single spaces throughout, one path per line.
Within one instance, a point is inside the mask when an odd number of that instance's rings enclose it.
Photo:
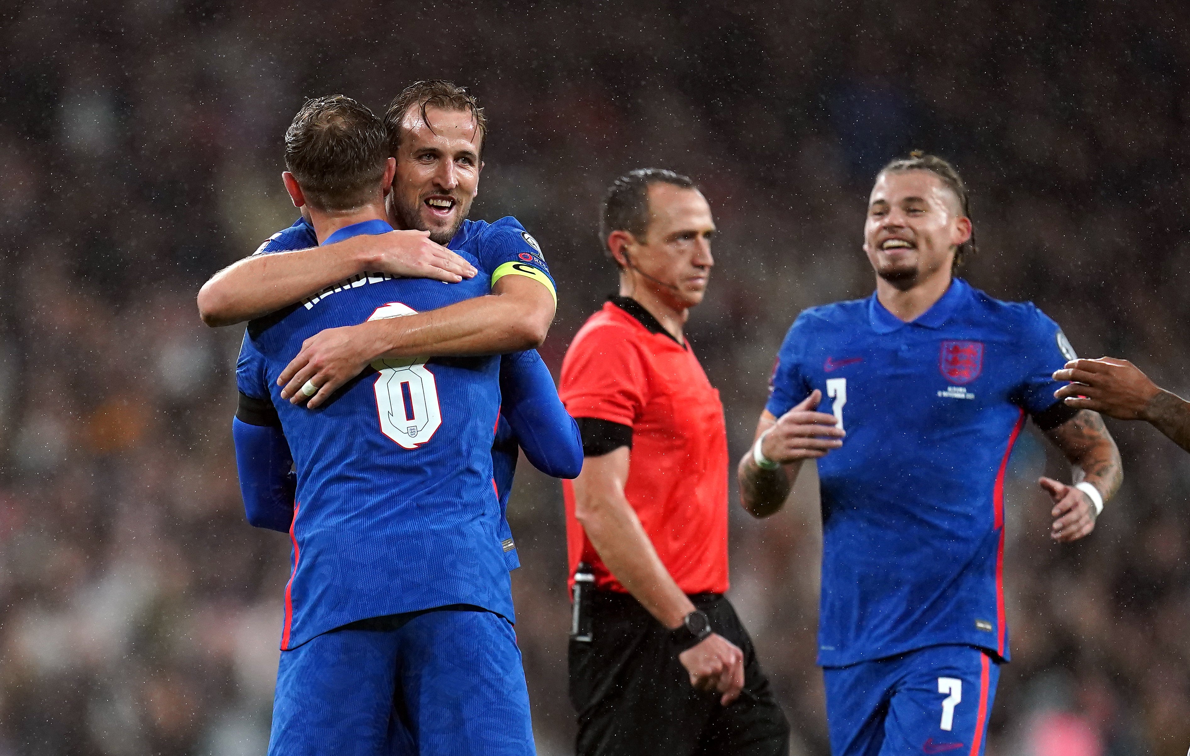
M 707 293 L 715 264 L 710 256 L 714 233 L 710 205 L 701 192 L 658 182 L 649 187 L 645 238 L 614 231 L 608 244 L 619 251 L 621 268 L 644 274 L 637 276 L 635 286 L 652 289 L 675 310 L 687 310 Z

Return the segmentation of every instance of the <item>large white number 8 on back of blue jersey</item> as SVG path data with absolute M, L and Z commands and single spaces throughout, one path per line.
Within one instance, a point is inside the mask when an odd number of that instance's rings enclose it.
M 376 308 L 369 320 L 400 318 L 416 311 L 401 302 Z M 425 357 L 376 360 L 376 412 L 380 430 L 402 449 L 416 449 L 430 441 L 443 424 L 438 405 L 438 383 L 426 368 Z

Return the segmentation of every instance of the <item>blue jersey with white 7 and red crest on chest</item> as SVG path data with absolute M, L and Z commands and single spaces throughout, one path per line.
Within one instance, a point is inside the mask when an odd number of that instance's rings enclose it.
M 913 323 L 875 294 L 797 317 L 766 408 L 779 418 L 818 388 L 847 432 L 818 461 L 820 664 L 950 643 L 1008 658 L 1004 470 L 1072 356 L 1032 304 L 960 279 Z

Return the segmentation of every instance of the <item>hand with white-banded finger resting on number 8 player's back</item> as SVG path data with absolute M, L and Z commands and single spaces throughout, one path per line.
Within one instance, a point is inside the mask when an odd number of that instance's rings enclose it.
M 326 329 L 302 342 L 301 351 L 277 376 L 277 386 L 283 387 L 281 398 L 295 405 L 305 401 L 308 410 L 330 399 L 340 386 L 383 354 L 383 346 L 375 338 L 377 323 L 381 321 Z M 318 388 L 312 396 L 302 391 L 307 381 Z

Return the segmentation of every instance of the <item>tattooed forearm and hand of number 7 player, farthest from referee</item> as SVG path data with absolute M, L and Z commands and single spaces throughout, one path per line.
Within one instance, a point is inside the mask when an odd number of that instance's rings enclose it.
M 1079 410 L 1071 419 L 1046 431 L 1046 437 L 1066 455 L 1073 467 L 1076 485 L 1088 482 L 1095 486 L 1104 504 L 1120 489 L 1123 482 L 1120 450 L 1098 413 Z M 1050 477 L 1038 482 L 1053 499 L 1051 538 L 1069 543 L 1095 530 L 1095 504 L 1085 492 Z

